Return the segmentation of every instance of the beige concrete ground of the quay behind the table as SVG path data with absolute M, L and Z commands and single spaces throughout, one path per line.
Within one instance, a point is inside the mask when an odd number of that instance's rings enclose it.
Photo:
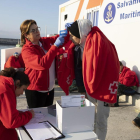
M 61 88 L 55 86 L 54 104 L 63 95 L 65 93 Z M 132 124 L 132 120 L 138 115 L 140 110 L 122 100 L 120 100 L 119 104 L 119 107 L 111 107 L 106 140 L 140 140 L 140 129 Z M 27 108 L 26 97 L 22 95 L 17 98 L 17 109 L 25 108 Z

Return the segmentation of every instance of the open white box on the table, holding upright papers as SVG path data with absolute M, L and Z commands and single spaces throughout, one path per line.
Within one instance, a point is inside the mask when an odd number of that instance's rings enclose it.
M 56 101 L 56 122 L 62 133 L 94 130 L 95 106 L 85 100 L 85 107 L 62 108 L 61 101 Z

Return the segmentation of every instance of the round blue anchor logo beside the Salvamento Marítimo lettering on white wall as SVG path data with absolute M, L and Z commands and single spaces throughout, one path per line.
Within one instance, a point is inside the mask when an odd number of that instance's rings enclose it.
M 109 24 L 114 20 L 116 7 L 113 3 L 109 3 L 104 10 L 104 21 Z

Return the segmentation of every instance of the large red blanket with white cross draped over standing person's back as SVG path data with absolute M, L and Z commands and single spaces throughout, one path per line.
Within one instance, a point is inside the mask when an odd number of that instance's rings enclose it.
M 115 103 L 119 59 L 115 46 L 98 27 L 93 27 L 86 38 L 82 67 L 87 93 L 97 100 Z

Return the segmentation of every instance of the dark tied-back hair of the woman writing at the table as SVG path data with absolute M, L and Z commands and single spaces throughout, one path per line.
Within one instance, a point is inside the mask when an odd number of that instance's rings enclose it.
M 5 68 L 4 70 L 0 71 L 0 75 L 6 76 L 6 77 L 12 77 L 14 81 L 19 80 L 21 87 L 22 85 L 29 85 L 29 77 L 22 71 L 16 71 L 13 67 Z

